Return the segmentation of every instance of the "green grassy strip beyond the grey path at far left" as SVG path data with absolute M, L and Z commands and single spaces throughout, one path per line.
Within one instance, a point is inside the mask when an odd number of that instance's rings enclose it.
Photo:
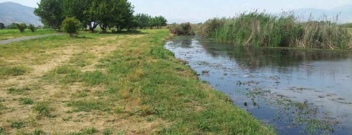
M 20 30 L 18 29 L 0 30 L 0 40 L 26 37 L 26 36 L 45 35 L 45 34 L 52 34 L 52 33 L 56 33 L 56 31 L 53 29 L 37 29 L 36 31 L 31 32 L 29 29 L 26 29 L 25 32 L 21 33 Z

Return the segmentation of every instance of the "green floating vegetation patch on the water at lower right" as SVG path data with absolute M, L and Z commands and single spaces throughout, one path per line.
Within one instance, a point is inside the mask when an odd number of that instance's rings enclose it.
M 245 83 L 237 82 L 238 85 Z M 295 88 L 294 90 L 311 90 L 307 88 Z M 240 91 L 238 91 L 240 92 Z M 271 104 L 275 108 L 278 108 L 275 112 L 276 118 L 273 120 L 284 121 L 290 125 L 290 127 L 298 127 L 301 133 L 306 134 L 318 134 L 318 133 L 329 133 L 336 129 L 343 128 L 336 126 L 339 121 L 336 118 L 328 116 L 328 113 L 319 112 L 319 107 L 309 102 L 309 99 L 304 101 L 294 101 L 277 93 L 271 93 L 269 89 L 262 89 L 252 87 L 252 89 L 246 88 L 246 92 L 243 93 L 247 98 L 252 100 L 253 106 L 258 106 L 258 102 L 264 102 Z M 256 99 L 257 98 L 257 99 Z M 263 100 L 263 101 L 260 101 Z M 337 98 L 335 100 L 344 100 Z M 244 103 L 247 106 L 247 102 Z

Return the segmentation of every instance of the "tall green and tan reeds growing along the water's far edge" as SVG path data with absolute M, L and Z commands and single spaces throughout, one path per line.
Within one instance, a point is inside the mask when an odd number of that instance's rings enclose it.
M 299 22 L 293 12 L 273 16 L 255 11 L 234 18 L 215 18 L 198 26 L 197 35 L 255 47 L 352 48 L 346 28 L 330 21 Z

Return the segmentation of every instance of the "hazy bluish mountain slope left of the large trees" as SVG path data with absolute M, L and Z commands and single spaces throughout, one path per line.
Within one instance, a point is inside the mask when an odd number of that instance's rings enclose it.
M 34 26 L 43 25 L 39 17 L 34 15 L 34 8 L 21 4 L 5 2 L 0 3 L 0 22 L 5 26 L 11 23 L 26 23 Z

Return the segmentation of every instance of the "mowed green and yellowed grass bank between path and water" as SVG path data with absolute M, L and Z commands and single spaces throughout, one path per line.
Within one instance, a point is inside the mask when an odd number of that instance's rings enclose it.
M 25 69 L 0 74 L 2 133 L 274 134 L 200 82 L 163 47 L 170 37 L 81 33 L 0 46 L 2 69 Z

